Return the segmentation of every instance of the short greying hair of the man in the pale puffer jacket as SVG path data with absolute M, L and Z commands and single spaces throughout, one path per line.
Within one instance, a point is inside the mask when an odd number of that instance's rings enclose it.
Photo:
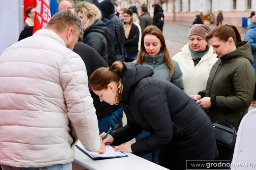
M 79 35 L 79 41 L 83 39 L 83 27 L 80 18 L 71 11 L 60 11 L 53 15 L 47 23 L 47 27 L 53 27 L 57 32 L 61 33 L 64 30 L 72 27 L 74 32 Z

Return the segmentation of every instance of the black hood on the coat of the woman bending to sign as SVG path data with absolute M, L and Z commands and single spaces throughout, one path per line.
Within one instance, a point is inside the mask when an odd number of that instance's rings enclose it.
M 149 67 L 144 67 L 135 63 L 123 63 L 124 73 L 121 81 L 124 85 L 121 102 L 127 102 L 131 94 L 132 88 L 143 78 L 152 76 L 154 71 Z

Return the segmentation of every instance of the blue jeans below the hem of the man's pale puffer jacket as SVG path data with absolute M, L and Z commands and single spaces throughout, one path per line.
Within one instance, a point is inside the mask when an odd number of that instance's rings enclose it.
M 13 167 L 13 166 L 6 166 L 1 165 L 3 170 L 72 170 L 72 164 L 58 164 L 53 166 L 45 166 L 45 167 L 39 167 L 39 168 L 19 168 L 19 167 Z

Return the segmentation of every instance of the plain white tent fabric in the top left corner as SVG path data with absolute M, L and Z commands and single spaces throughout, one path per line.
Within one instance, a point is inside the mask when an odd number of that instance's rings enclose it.
M 19 39 L 19 1 L 1 1 L 0 5 L 0 54 Z

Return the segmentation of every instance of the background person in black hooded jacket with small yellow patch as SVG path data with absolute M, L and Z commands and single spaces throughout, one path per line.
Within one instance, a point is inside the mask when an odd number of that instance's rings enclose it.
M 153 25 L 157 26 L 163 32 L 164 10 L 159 4 L 154 4 L 152 6 L 154 8 Z

